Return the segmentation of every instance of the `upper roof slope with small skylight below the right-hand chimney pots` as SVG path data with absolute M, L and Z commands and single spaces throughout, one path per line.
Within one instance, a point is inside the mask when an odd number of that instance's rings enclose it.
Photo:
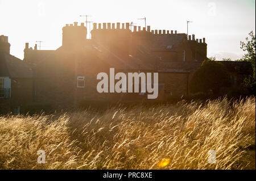
M 184 33 L 152 36 L 152 51 L 176 51 L 179 44 L 186 38 Z

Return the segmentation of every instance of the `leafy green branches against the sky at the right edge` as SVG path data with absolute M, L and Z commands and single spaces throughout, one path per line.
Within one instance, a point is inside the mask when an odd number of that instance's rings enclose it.
M 253 81 L 255 83 L 255 35 L 253 31 L 249 33 L 250 38 L 246 37 L 246 43 L 240 41 L 241 49 L 245 51 L 245 55 L 242 57 L 243 61 L 251 62 L 251 66 L 253 66 Z

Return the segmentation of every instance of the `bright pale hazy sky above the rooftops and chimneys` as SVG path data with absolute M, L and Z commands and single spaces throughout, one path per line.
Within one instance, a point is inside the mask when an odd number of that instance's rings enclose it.
M 208 57 L 237 60 L 244 52 L 240 41 L 250 31 L 255 34 L 255 0 L 0 0 L 0 35 L 9 36 L 10 53 L 23 60 L 25 43 L 41 49 L 57 49 L 62 43 L 65 24 L 136 23 L 151 30 L 177 30 L 178 33 L 205 37 Z M 92 27 L 92 26 L 91 26 Z

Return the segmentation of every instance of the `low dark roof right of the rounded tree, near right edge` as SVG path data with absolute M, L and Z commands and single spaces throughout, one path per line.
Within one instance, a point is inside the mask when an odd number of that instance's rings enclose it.
M 236 72 L 240 74 L 253 73 L 253 68 L 250 62 L 247 62 L 247 61 L 220 61 L 220 62 L 225 65 L 228 71 Z

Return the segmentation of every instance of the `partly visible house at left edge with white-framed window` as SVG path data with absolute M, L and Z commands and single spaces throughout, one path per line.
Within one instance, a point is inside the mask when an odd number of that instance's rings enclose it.
M 32 102 L 30 65 L 10 54 L 7 36 L 0 36 L 0 113 L 19 113 L 20 107 Z

